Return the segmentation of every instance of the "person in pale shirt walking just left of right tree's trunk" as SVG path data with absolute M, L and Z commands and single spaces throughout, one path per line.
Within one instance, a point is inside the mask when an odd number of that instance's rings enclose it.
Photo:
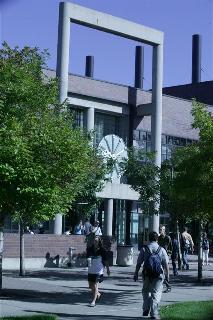
M 188 228 L 184 227 L 184 231 L 181 235 L 181 252 L 182 252 L 182 260 L 183 260 L 183 269 L 189 270 L 188 263 L 188 253 L 194 252 L 194 242 L 192 240 L 192 236 L 188 233 Z

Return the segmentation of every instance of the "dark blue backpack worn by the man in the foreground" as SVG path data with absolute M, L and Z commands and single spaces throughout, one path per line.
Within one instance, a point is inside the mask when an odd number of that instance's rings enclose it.
M 143 275 L 149 278 L 158 278 L 163 273 L 161 258 L 159 256 L 161 247 L 159 246 L 157 251 L 151 252 L 149 247 L 145 246 L 145 250 L 149 255 L 144 261 Z

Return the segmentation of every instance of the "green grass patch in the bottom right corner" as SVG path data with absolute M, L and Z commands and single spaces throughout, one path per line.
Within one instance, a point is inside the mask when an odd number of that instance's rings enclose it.
M 213 319 L 213 300 L 171 304 L 160 308 L 162 320 Z

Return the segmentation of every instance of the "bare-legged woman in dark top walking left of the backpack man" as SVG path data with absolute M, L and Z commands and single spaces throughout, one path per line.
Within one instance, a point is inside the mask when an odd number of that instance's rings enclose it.
M 103 281 L 104 267 L 106 266 L 107 275 L 110 275 L 107 252 L 103 247 L 102 240 L 94 233 L 89 235 L 90 243 L 87 247 L 87 259 L 90 258 L 88 266 L 88 283 L 92 292 L 92 302 L 90 307 L 95 307 L 96 300 L 100 299 L 99 283 Z

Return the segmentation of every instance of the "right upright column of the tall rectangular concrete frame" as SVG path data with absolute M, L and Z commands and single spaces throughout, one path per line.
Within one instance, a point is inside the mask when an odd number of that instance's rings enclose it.
M 152 104 L 151 143 L 155 152 L 155 165 L 161 167 L 161 131 L 162 131 L 162 84 L 163 84 L 163 45 L 153 47 L 152 61 Z M 160 197 L 160 195 L 159 195 Z M 159 212 L 159 203 L 154 203 Z M 152 218 L 152 230 L 159 232 L 159 214 Z

